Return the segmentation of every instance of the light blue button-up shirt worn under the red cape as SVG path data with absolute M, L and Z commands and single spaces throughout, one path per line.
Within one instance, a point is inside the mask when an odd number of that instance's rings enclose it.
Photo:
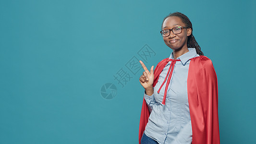
M 189 52 L 178 57 L 181 61 L 176 61 L 168 86 L 165 105 L 162 104 L 164 90 L 167 81 L 157 93 L 163 83 L 171 61 L 164 67 L 159 75 L 157 84 L 154 87 L 152 96 L 146 95 L 144 98 L 151 111 L 146 124 L 145 134 L 158 141 L 159 144 L 191 144 L 192 126 L 190 120 L 187 75 L 191 58 L 199 56 L 195 48 L 188 48 Z M 170 59 L 174 59 L 171 53 Z

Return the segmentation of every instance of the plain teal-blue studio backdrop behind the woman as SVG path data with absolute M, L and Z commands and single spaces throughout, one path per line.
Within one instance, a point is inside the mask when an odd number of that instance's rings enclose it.
M 159 31 L 177 11 L 217 72 L 221 143 L 256 143 L 255 0 L 0 0 L 0 144 L 137 144 L 143 70 L 113 75 L 145 44 L 148 69 L 169 57 Z

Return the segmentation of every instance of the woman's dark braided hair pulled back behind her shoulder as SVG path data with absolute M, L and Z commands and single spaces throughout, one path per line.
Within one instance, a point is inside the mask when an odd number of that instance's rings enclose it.
M 192 27 L 192 23 L 190 22 L 190 20 L 188 19 L 188 17 L 186 15 L 184 15 L 183 13 L 181 12 L 174 12 L 174 13 L 170 13 L 169 15 L 167 15 L 164 20 L 163 20 L 163 23 L 165 21 L 165 19 L 167 19 L 168 17 L 170 16 L 177 16 L 179 17 L 182 22 L 186 25 L 186 27 L 188 28 L 191 28 L 192 32 L 193 32 L 193 27 Z M 162 23 L 162 26 L 161 26 L 161 29 L 163 28 L 163 23 Z M 191 32 L 191 35 L 188 36 L 188 39 L 187 39 L 187 47 L 188 48 L 195 48 L 196 50 L 196 53 L 198 55 L 204 55 L 204 53 L 201 51 L 201 48 L 200 46 L 198 45 L 198 43 L 196 42 L 195 40 L 195 37 L 193 36 Z

